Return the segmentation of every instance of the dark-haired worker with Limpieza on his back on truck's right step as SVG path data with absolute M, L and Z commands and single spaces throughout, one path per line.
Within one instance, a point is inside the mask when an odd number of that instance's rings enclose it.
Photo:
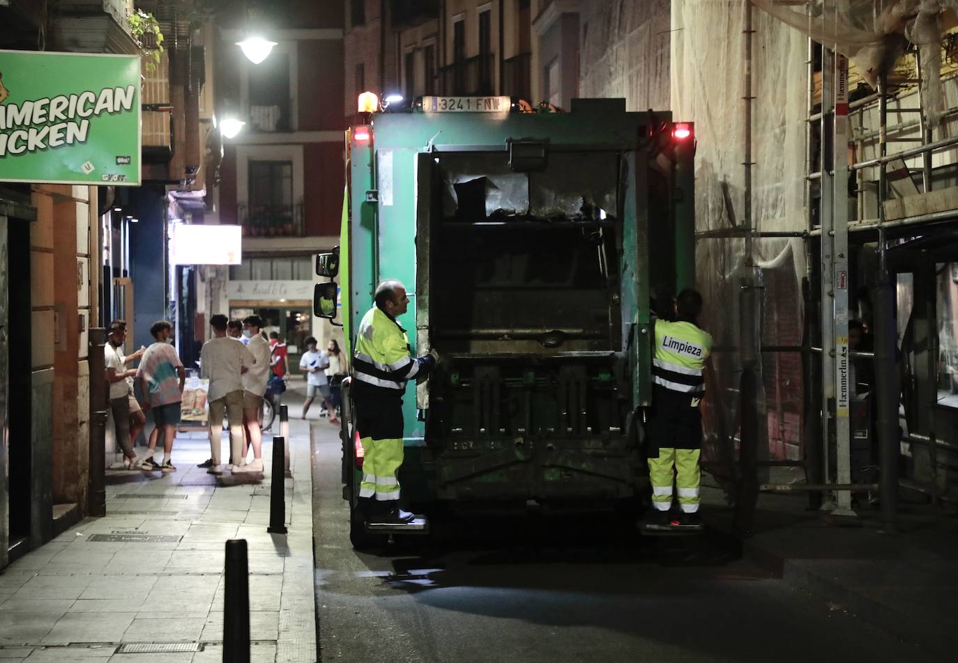
M 675 299 L 675 321 L 655 320 L 652 409 L 649 419 L 649 475 L 655 523 L 669 526 L 673 478 L 682 515 L 675 524 L 697 525 L 698 456 L 702 422 L 698 404 L 705 395 L 702 370 L 712 337 L 698 327 L 702 296 L 686 289 Z

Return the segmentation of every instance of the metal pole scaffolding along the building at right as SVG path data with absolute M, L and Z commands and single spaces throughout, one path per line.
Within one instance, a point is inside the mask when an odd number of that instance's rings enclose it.
M 848 11 L 848 0 L 810 0 L 805 7 L 808 34 L 820 37 L 840 33 L 841 17 Z M 942 498 L 939 451 L 958 451 L 958 445 L 939 440 L 935 434 L 938 330 L 934 295 L 924 298 L 922 315 L 915 312 L 911 318 L 911 343 L 922 348 L 915 352 L 915 374 L 925 384 L 919 393 L 924 393 L 924 400 L 931 394 L 931 400 L 919 408 L 922 416 L 916 431 L 907 431 L 902 436 L 899 430 L 901 385 L 897 368 L 896 275 L 911 268 L 903 268 L 895 260 L 895 255 L 901 253 L 898 250 L 906 244 L 904 240 L 921 234 L 929 225 L 958 219 L 958 197 L 947 209 L 928 210 L 927 206 L 919 205 L 923 198 L 927 203 L 929 194 L 935 190 L 935 163 L 939 166 L 956 163 L 952 150 L 958 145 L 958 137 L 946 135 L 935 141 L 932 126 L 940 117 L 945 123 L 938 132 L 947 134 L 947 121 L 958 113 L 958 107 L 948 108 L 940 115 L 937 111 L 929 111 L 923 78 L 927 74 L 922 62 L 928 51 L 914 45 L 909 46 L 903 55 L 914 65 L 910 77 L 898 76 L 890 82 L 888 72 L 881 72 L 875 93 L 850 99 L 849 60 L 842 53 L 847 49 L 837 41 L 826 41 L 823 45 L 810 36 L 805 61 L 808 85 L 804 229 L 757 228 L 752 218 L 752 174 L 753 167 L 762 164 L 755 163 L 752 143 L 755 130 L 753 106 L 757 97 L 752 74 L 755 68 L 752 59 L 753 40 L 756 38 L 755 10 L 747 1 L 741 3 L 741 8 L 741 117 L 744 123 L 741 224 L 700 229 L 696 232 L 696 239 L 700 245 L 717 241 L 741 241 L 743 244 L 741 272 L 744 276 L 736 305 L 740 319 L 745 321 L 761 320 L 763 316 L 763 274 L 761 269 L 755 268 L 754 243 L 767 239 L 801 241 L 807 256 L 802 279 L 804 330 L 801 343 L 766 343 L 761 329 L 754 335 L 756 338 L 752 338 L 748 332 L 752 327 L 745 323 L 741 325 L 743 329 L 738 343 L 722 345 L 719 342 L 717 345 L 719 353 L 738 354 L 738 364 L 734 366 L 741 371 L 741 379 L 737 390 L 725 387 L 722 391 L 722 397 L 737 401 L 731 410 L 733 416 L 738 416 L 739 430 L 737 436 L 719 431 L 719 442 L 725 449 L 720 450 L 713 470 L 729 479 L 727 485 L 734 486 L 732 497 L 736 499 L 737 524 L 741 530 L 750 529 L 751 509 L 758 492 L 800 490 L 809 492 L 812 506 L 828 510 L 835 516 L 853 518 L 853 495 L 874 494 L 880 497 L 885 529 L 895 531 L 901 442 L 913 449 L 925 450 L 930 485 L 901 483 L 926 492 L 933 504 L 940 503 Z M 956 77 L 958 74 L 947 82 L 958 90 Z M 820 99 L 816 99 L 819 87 Z M 958 104 L 958 99 L 955 103 Z M 890 108 L 890 104 L 893 107 Z M 890 115 L 897 122 L 889 122 Z M 905 149 L 898 145 L 905 143 L 916 145 Z M 845 145 L 848 147 L 836 148 Z M 916 175 L 920 176 L 920 183 L 914 182 L 913 176 Z M 854 185 L 851 193 L 850 183 Z M 913 193 L 908 190 L 912 186 Z M 936 200 L 936 204 L 941 207 L 946 200 L 943 197 Z M 910 203 L 915 203 L 914 208 Z M 894 213 L 890 213 L 893 208 Z M 850 238 L 852 249 L 857 254 L 874 258 L 873 267 L 866 271 L 860 268 L 863 258 L 859 255 L 858 272 L 867 272 L 866 277 L 855 276 Z M 930 277 L 934 287 L 934 261 L 930 273 L 927 265 L 919 265 L 914 271 L 916 275 L 922 275 L 921 282 L 925 286 Z M 855 351 L 850 346 L 849 322 L 853 318 L 850 304 L 853 298 L 859 298 L 857 293 L 850 298 L 850 290 L 863 285 L 867 286 L 867 298 L 872 304 L 873 351 Z M 762 359 L 758 355 L 781 356 L 787 353 L 797 354 L 802 363 L 803 457 L 771 458 L 763 448 L 760 419 L 764 394 L 760 394 Z M 854 476 L 853 447 L 857 440 L 850 424 L 855 407 L 853 366 L 861 362 L 870 363 L 874 374 L 874 385 L 868 398 L 876 411 L 871 428 L 878 438 L 878 473 L 871 473 L 867 480 L 860 479 L 862 473 Z M 722 409 L 720 404 L 719 409 Z M 726 428 L 728 414 L 728 411 L 721 412 L 719 429 Z M 765 423 L 768 422 L 766 415 Z M 770 468 L 801 468 L 805 481 L 769 480 L 766 475 Z M 875 476 L 877 478 L 872 478 Z

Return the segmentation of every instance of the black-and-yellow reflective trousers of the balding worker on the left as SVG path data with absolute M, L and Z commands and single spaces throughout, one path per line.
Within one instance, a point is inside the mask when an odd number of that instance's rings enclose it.
M 399 499 L 402 465 L 402 392 L 354 383 L 356 430 L 363 449 L 359 497 Z M 389 506 L 389 505 L 383 505 Z

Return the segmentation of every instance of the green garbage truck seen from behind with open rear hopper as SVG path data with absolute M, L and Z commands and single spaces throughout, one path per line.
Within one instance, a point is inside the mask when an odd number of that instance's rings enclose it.
M 695 273 L 693 124 L 625 99 L 423 97 L 370 114 L 346 148 L 339 247 L 316 260 L 339 286 L 316 286 L 315 313 L 341 317 L 351 352 L 377 283 L 399 279 L 413 354 L 441 358 L 403 398 L 403 508 L 641 509 L 651 301 Z

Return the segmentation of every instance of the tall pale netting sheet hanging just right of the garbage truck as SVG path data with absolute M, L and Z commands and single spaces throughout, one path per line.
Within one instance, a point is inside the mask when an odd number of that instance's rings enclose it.
M 696 123 L 696 229 L 721 231 L 744 219 L 746 0 L 674 0 L 672 109 Z M 768 13 L 752 10 L 752 224 L 759 231 L 806 228 L 806 119 L 808 39 Z M 708 399 L 706 456 L 739 433 L 742 358 L 764 343 L 798 344 L 804 320 L 803 241 L 756 239 L 752 259 L 763 334 L 742 334 L 742 279 L 749 276 L 741 239 L 701 238 L 696 282 L 706 300 L 702 324 L 713 335 L 717 393 Z M 764 302 L 764 303 L 762 303 Z M 759 320 L 750 320 L 757 325 Z M 764 339 L 760 336 L 764 335 Z M 749 348 L 742 348 L 748 343 Z M 801 364 L 797 354 L 759 355 L 760 450 L 799 457 L 802 429 Z M 767 438 L 764 435 L 767 433 Z M 726 447 L 727 449 L 727 447 Z M 760 451 L 760 455 L 764 455 Z

